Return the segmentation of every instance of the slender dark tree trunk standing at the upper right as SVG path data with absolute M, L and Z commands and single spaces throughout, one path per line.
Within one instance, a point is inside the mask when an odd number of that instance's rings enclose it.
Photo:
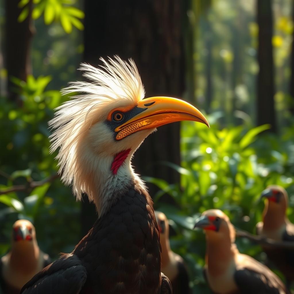
M 273 66 L 273 15 L 271 0 L 257 0 L 258 63 L 257 78 L 257 124 L 269 123 L 272 132 L 277 132 L 274 103 Z

